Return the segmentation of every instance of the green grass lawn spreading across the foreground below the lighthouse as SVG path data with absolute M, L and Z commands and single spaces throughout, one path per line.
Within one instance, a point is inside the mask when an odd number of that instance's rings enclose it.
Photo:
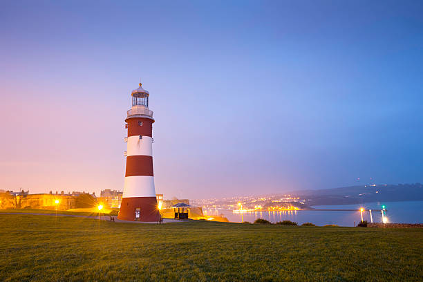
M 0 281 L 422 281 L 423 229 L 0 214 Z

